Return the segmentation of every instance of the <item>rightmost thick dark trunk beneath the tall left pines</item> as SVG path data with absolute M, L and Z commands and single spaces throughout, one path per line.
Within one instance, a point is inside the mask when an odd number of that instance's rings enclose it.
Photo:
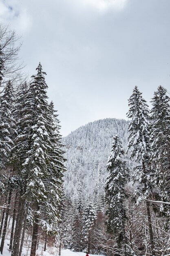
M 35 256 L 36 247 L 37 247 L 37 238 L 38 238 L 38 222 L 39 222 L 39 215 L 37 213 L 39 207 L 38 204 L 35 210 L 35 222 L 33 223 L 33 233 L 32 233 L 32 243 L 31 243 L 31 253 L 30 256 Z

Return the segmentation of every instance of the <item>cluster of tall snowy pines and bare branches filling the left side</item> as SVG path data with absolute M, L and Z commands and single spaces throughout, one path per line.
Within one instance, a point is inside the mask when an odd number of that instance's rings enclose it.
M 57 234 L 66 169 L 46 73 L 39 63 L 30 82 L 19 83 L 16 43 L 15 32 L 1 24 L 0 253 L 8 233 L 11 256 L 21 256 L 26 236 L 35 256 L 39 240 Z

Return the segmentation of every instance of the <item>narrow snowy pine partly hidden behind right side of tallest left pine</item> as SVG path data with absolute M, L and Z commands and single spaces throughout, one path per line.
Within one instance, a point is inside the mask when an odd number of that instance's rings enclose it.
M 49 175 L 44 180 L 44 185 L 48 194 L 46 195 L 46 202 L 44 205 L 44 213 L 46 220 L 40 222 L 42 228 L 47 232 L 47 234 L 57 233 L 57 222 L 59 221 L 59 209 L 58 205 L 62 200 L 63 196 L 63 176 L 66 168 L 64 166 L 64 161 L 66 160 L 63 156 L 64 150 L 61 144 L 60 135 L 60 121 L 57 119 L 57 114 L 55 114 L 54 104 L 51 101 L 49 104 L 49 119 L 51 129 L 49 130 L 49 138 L 51 141 L 51 151 L 49 152 L 51 161 L 49 163 Z M 55 200 L 54 200 L 55 199 Z

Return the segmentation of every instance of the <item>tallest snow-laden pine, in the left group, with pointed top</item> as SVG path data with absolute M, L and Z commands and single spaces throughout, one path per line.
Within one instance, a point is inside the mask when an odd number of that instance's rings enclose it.
M 26 90 L 24 104 L 20 102 L 21 105 L 18 105 L 19 132 L 13 149 L 13 164 L 18 165 L 22 180 L 20 189 L 22 210 L 18 213 L 17 231 L 14 236 L 20 239 L 19 223 L 24 215 L 24 204 L 29 202 L 35 213 L 31 256 L 35 256 L 39 225 L 46 230 L 48 226 L 51 231 L 51 223 L 54 219 L 57 220 L 57 202 L 60 198 L 59 190 L 64 168 L 63 152 L 58 141 L 60 136 L 54 131 L 53 115 L 47 102 L 45 72 L 42 71 L 40 63 L 36 70 L 37 74 L 32 76 L 29 90 Z M 18 256 L 19 239 L 17 241 L 14 239 L 12 256 Z

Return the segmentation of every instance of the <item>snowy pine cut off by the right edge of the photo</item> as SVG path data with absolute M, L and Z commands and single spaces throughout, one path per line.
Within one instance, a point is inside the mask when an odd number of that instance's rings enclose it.
M 161 200 L 170 201 L 170 97 L 163 86 L 159 86 L 152 98 L 150 111 L 151 162 L 155 170 L 153 180 L 159 188 Z M 161 205 L 161 211 L 169 207 Z

